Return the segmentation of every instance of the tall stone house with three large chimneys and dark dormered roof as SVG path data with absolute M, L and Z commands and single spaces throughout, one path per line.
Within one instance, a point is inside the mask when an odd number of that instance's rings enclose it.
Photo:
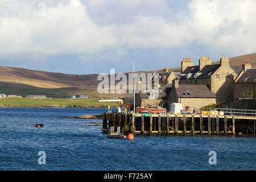
M 229 66 L 229 59 L 222 56 L 220 64 L 212 64 L 209 57 L 201 57 L 199 65 L 193 66 L 191 58 L 181 61 L 180 84 L 207 85 L 216 94 L 217 102 L 233 100 L 233 84 L 236 72 Z M 207 105 L 207 104 L 206 104 Z

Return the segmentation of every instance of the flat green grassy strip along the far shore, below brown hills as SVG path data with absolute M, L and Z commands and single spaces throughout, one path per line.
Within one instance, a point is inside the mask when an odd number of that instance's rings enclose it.
M 0 105 L 10 105 L 10 106 L 117 106 L 116 102 L 103 102 L 99 103 L 98 99 L 43 99 L 43 98 L 2 98 L 0 99 Z

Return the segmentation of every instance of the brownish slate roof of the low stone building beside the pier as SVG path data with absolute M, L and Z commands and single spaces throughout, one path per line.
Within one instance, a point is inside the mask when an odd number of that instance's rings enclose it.
M 181 98 L 216 98 L 216 94 L 210 92 L 207 85 L 183 85 L 175 88 L 177 96 Z M 185 93 L 185 95 L 183 94 Z M 189 93 L 190 95 L 188 95 Z

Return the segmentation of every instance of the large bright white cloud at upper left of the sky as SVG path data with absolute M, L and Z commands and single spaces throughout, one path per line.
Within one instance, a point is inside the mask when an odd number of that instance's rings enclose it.
M 0 18 L 0 54 L 36 52 L 46 55 L 61 53 L 97 53 L 115 43 L 108 27 L 94 24 L 85 6 L 72 0 L 66 5 L 27 10 L 20 5 L 20 16 Z M 37 7 L 37 6 L 36 6 Z

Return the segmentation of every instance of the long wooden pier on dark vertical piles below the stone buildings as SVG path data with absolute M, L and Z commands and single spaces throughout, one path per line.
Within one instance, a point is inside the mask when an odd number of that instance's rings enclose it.
M 203 114 L 104 113 L 102 128 L 120 126 L 135 135 L 255 136 L 254 116 Z

